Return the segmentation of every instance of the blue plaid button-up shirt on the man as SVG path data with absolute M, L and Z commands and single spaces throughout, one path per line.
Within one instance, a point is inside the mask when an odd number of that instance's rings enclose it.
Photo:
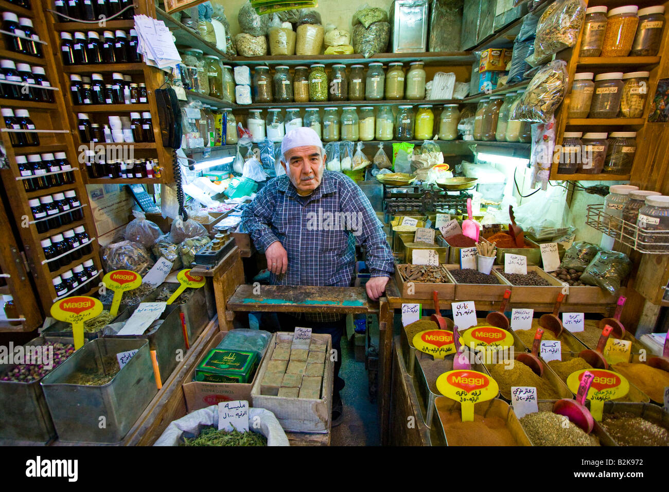
M 383 225 L 355 182 L 325 170 L 320 186 L 298 195 L 287 175 L 271 179 L 242 213 L 242 224 L 258 251 L 280 241 L 288 254 L 285 274 L 274 285 L 349 287 L 355 267 L 355 238 L 367 250 L 371 276 L 391 276 L 393 254 Z

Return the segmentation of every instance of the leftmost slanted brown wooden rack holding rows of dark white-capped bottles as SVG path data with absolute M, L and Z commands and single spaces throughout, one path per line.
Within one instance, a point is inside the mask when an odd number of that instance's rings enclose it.
M 40 4 L 38 2 L 33 2 L 33 7 L 39 6 Z M 60 90 L 62 84 L 60 84 L 58 78 L 58 74 L 62 72 L 62 70 L 60 70 L 60 67 L 54 62 L 54 44 L 52 37 L 49 35 L 50 27 L 47 25 L 45 19 L 45 11 L 39 8 L 33 8 L 33 10 L 29 11 L 3 0 L 0 0 L 0 10 L 13 11 L 17 13 L 19 17 L 29 17 L 32 19 L 35 33 L 39 35 L 39 39 L 46 43 L 41 45 L 43 58 L 37 58 L 8 50 L 7 46 L 5 46 L 4 36 L 0 36 L 0 57 L 15 60 L 15 62 L 25 62 L 31 66 L 42 66 L 52 87 L 59 89 L 53 91 L 54 102 L 51 104 L 9 99 L 0 100 L 0 107 L 27 108 L 30 112 L 31 120 L 33 120 L 33 123 L 35 124 L 37 135 L 39 136 L 39 145 L 37 146 L 12 147 L 9 140 L 10 132 L 7 131 L 4 120 L 0 125 L 0 139 L 2 139 L 2 143 L 5 147 L 5 153 L 7 154 L 7 161 L 9 163 L 9 169 L 0 171 L 0 177 L 3 181 L 7 199 L 9 201 L 9 206 L 6 207 L 6 210 L 8 214 L 11 211 L 13 222 L 19 232 L 20 242 L 23 244 L 23 253 L 25 254 L 26 270 L 29 272 L 26 276 L 32 277 L 34 283 L 33 290 L 35 291 L 36 296 L 32 301 L 29 297 L 23 297 L 24 295 L 27 296 L 28 289 L 26 287 L 29 286 L 30 283 L 25 282 L 27 278 L 21 278 L 20 272 L 17 274 L 17 278 L 19 278 L 21 284 L 20 286 L 17 286 L 16 289 L 13 289 L 12 294 L 15 305 L 16 303 L 21 303 L 19 313 L 23 313 L 25 317 L 25 322 L 22 323 L 21 328 L 24 331 L 32 331 L 39 326 L 39 323 L 41 323 L 42 315 L 49 315 L 51 306 L 57 297 L 54 284 L 52 283 L 55 276 L 88 259 L 93 260 L 97 270 L 100 270 L 101 265 L 98 243 L 94 240 L 97 235 L 95 223 L 88 202 L 88 194 L 86 193 L 86 185 L 82 176 L 82 170 L 80 169 L 81 165 L 79 164 L 79 152 L 72 139 L 72 131 L 70 130 L 68 120 L 62 118 L 62 115 L 66 114 L 66 102 L 64 100 L 63 91 Z M 23 185 L 23 179 L 21 179 L 17 167 L 16 156 L 55 152 L 66 153 L 68 162 L 72 167 L 70 172 L 72 172 L 72 175 L 74 176 L 74 182 L 69 185 L 60 185 L 38 191 L 26 191 Z M 34 218 L 28 206 L 28 200 L 70 189 L 76 192 L 76 196 L 80 200 L 84 218 L 82 220 L 71 222 L 66 226 L 61 226 L 60 228 L 48 230 L 41 234 L 37 232 Z M 50 272 L 40 241 L 77 226 L 84 226 L 89 237 L 92 239 L 92 242 L 90 243 L 92 252 L 82 256 L 80 260 L 74 260 L 68 266 L 60 268 L 56 272 Z M 5 252 L 5 254 L 2 255 L 3 258 L 6 254 L 7 253 Z M 7 262 L 7 258 L 5 258 L 5 262 Z M 5 271 L 5 265 L 3 265 L 3 271 Z M 13 273 L 10 272 L 10 275 L 13 276 Z M 97 291 L 98 282 L 90 282 L 88 285 L 90 286 L 90 289 L 88 289 L 87 292 L 88 295 Z M 35 305 L 41 306 L 41 314 L 35 309 Z M 18 308 L 19 307 L 17 306 L 17 309 Z M 14 327 L 13 329 L 16 328 Z

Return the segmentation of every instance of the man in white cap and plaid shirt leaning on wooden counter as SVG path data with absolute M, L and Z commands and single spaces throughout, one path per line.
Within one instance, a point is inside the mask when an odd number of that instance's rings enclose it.
M 256 248 L 267 257 L 275 285 L 349 287 L 355 266 L 355 238 L 367 250 L 371 278 L 367 295 L 377 300 L 393 273 L 393 254 L 369 199 L 355 182 L 326 171 L 322 142 L 310 128 L 289 131 L 281 144 L 286 175 L 272 179 L 242 214 Z M 336 351 L 332 425 L 343 417 L 339 392 L 341 336 L 345 316 L 328 313 L 277 313 L 280 326 L 311 327 L 332 335 Z

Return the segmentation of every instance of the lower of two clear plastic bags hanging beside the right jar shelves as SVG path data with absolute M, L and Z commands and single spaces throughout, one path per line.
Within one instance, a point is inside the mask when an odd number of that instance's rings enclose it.
M 509 120 L 547 123 L 553 118 L 555 108 L 565 98 L 567 89 L 567 63 L 555 60 L 541 68 L 532 78 L 521 100 L 514 106 Z

